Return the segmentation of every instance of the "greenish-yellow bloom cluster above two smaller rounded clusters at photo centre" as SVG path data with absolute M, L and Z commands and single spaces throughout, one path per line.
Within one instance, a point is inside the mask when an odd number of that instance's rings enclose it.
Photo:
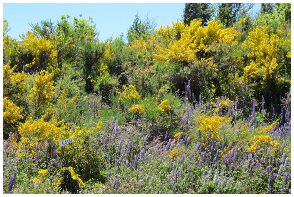
M 137 89 L 133 85 L 129 85 L 128 87 L 126 85 L 123 85 L 123 89 L 125 91 L 119 92 L 117 91 L 116 93 L 119 94 L 118 102 L 121 104 L 128 102 L 128 103 L 135 103 L 138 100 L 140 100 L 141 96 L 137 92 Z

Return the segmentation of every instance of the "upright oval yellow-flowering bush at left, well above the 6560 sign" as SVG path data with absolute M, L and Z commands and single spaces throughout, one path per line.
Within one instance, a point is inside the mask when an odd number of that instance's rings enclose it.
M 29 97 L 35 107 L 39 108 L 41 105 L 47 105 L 55 95 L 53 76 L 54 73 L 41 71 L 40 75 L 34 79 L 34 87 L 31 89 Z

